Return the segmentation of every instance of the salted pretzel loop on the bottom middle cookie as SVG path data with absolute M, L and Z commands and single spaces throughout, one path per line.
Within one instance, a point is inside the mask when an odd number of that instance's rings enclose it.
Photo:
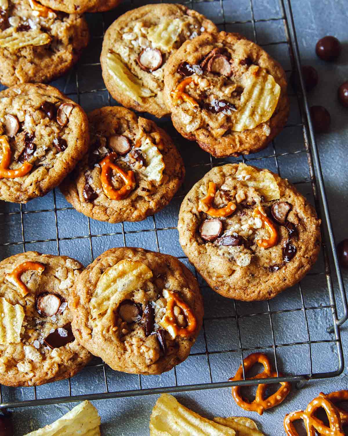
M 176 292 L 164 289 L 163 296 L 167 299 L 166 313 L 158 324 L 161 324 L 161 326 L 169 332 L 173 339 L 177 336 L 191 336 L 191 334 L 193 334 L 197 328 L 197 320 L 192 313 L 191 308 L 183 300 L 181 300 Z M 187 327 L 177 326 L 174 315 L 174 306 L 180 307 L 180 309 L 184 312 L 187 321 Z

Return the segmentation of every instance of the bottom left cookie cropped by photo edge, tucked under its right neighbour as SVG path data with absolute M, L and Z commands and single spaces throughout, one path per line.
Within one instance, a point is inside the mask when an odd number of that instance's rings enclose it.
M 37 386 L 72 377 L 90 360 L 71 330 L 68 298 L 83 266 L 30 251 L 0 262 L 0 383 Z

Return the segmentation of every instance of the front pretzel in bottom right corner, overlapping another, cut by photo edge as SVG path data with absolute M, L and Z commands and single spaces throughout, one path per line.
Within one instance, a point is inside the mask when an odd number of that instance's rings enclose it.
M 314 416 L 317 409 L 322 407 L 326 415 L 330 427 L 325 426 L 321 419 Z M 284 430 L 288 436 L 298 436 L 293 421 L 302 419 L 308 436 L 315 436 L 317 431 L 321 436 L 345 436 L 342 430 L 341 418 L 336 407 L 325 397 L 318 396 L 312 400 L 305 411 L 297 410 L 295 412 L 288 413 L 284 418 Z

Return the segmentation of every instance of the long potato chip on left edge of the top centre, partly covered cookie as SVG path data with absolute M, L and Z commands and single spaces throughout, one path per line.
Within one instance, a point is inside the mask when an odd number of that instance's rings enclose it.
M 106 62 L 107 69 L 116 81 L 120 91 L 129 95 L 138 103 L 141 103 L 141 97 L 154 95 L 150 89 L 141 85 L 141 81 L 129 71 L 118 54 L 108 53 Z

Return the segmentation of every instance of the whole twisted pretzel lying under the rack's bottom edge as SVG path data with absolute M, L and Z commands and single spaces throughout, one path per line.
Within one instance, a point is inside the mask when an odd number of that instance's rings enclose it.
M 251 367 L 254 366 L 255 363 L 261 363 L 264 366 L 264 371 L 255 375 L 255 377 L 250 377 L 247 380 L 254 380 L 255 378 L 268 378 L 268 377 L 277 377 L 277 372 L 272 371 L 272 367 L 270 361 L 266 354 L 263 353 L 252 353 L 248 357 L 244 359 L 244 371 L 247 373 Z M 280 376 L 282 374 L 279 374 Z M 228 379 L 228 381 L 235 380 L 243 380 L 243 368 L 242 365 L 239 367 L 236 375 Z M 271 409 L 278 404 L 280 404 L 285 397 L 289 394 L 291 389 L 291 384 L 288 381 L 281 381 L 281 387 L 275 392 L 273 395 L 264 399 L 264 394 L 267 388 L 267 384 L 261 383 L 258 385 L 256 396 L 254 401 L 251 403 L 246 402 L 241 397 L 241 386 L 233 386 L 232 387 L 232 396 L 234 401 L 237 403 L 239 407 L 244 410 L 258 412 L 259 415 L 262 415 L 266 409 Z

